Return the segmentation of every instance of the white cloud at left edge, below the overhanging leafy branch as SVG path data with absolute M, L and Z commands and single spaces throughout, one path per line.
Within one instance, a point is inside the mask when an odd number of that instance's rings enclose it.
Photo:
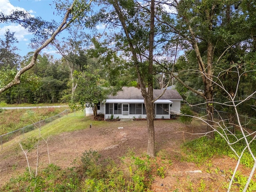
M 6 30 L 9 29 L 10 32 L 15 32 L 14 36 L 18 39 L 18 41 L 27 41 L 25 38 L 26 35 L 31 35 L 32 33 L 28 32 L 27 29 L 22 27 L 21 25 L 9 25 L 0 28 L 0 36 L 4 36 Z

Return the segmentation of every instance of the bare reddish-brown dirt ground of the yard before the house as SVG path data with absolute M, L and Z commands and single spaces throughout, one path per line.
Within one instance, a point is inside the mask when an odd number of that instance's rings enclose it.
M 204 191 L 226 191 L 223 181 L 228 182 L 228 174 L 223 172 L 206 172 L 207 165 L 196 166 L 194 163 L 182 162 L 182 152 L 180 145 L 188 140 L 198 137 L 186 132 L 198 133 L 202 127 L 185 127 L 184 124 L 176 120 L 156 120 L 155 125 L 155 147 L 156 154 L 163 152 L 168 154 L 172 161 L 172 166 L 166 168 L 167 174 L 162 179 L 156 176 L 152 190 L 157 192 L 165 191 L 194 191 L 196 188 L 205 186 Z M 120 128 L 122 127 L 122 128 Z M 119 129 L 118 129 L 119 128 Z M 118 157 L 123 156 L 129 149 L 138 154 L 146 154 L 147 150 L 147 126 L 146 121 L 118 121 L 106 122 L 106 127 L 99 128 L 92 124 L 92 128 L 80 131 L 65 132 L 58 136 L 51 136 L 48 140 L 50 162 L 62 168 L 72 166 L 74 159 L 80 158 L 85 150 L 98 150 L 103 157 L 109 157 L 118 161 Z M 0 150 L 0 187 L 11 178 L 22 171 L 27 166 L 26 158 L 20 148 L 17 147 L 10 154 L 10 150 Z M 49 163 L 47 148 L 41 142 L 39 150 L 39 167 Z M 8 155 L 7 155 L 8 154 Z M 28 153 L 28 160 L 33 167 L 36 165 L 36 151 Z M 161 159 L 158 158 L 158 161 Z M 230 158 L 213 159 L 212 170 L 219 168 L 226 170 L 234 169 L 235 161 Z M 202 173 L 198 173 L 200 170 Z M 247 170 L 242 170 L 247 172 Z

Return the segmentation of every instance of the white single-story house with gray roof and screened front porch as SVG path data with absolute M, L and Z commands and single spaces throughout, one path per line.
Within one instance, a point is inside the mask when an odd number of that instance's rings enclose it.
M 154 98 L 162 94 L 163 90 L 154 89 Z M 170 114 L 180 113 L 182 97 L 177 90 L 166 90 L 164 94 L 154 102 L 155 118 L 169 119 Z M 123 87 L 116 96 L 108 96 L 105 102 L 98 103 L 98 113 L 108 119 L 112 114 L 114 118 L 146 118 L 144 99 L 140 89 L 135 87 Z M 86 108 L 86 115 L 92 115 L 92 108 Z

